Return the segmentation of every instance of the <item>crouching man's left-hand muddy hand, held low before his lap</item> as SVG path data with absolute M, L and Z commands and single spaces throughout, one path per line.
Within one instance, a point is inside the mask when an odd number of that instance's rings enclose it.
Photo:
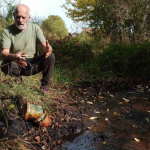
M 22 55 L 26 54 L 26 52 L 23 52 L 23 53 L 18 53 L 15 55 L 15 62 L 18 64 L 18 65 L 21 65 L 21 66 L 24 66 L 26 67 L 27 66 L 27 63 L 22 61 L 22 60 L 25 60 L 24 57 L 22 57 Z

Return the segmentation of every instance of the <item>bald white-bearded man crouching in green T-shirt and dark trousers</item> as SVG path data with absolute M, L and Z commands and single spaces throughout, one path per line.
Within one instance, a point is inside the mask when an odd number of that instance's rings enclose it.
M 41 89 L 48 91 L 55 62 L 52 47 L 43 36 L 40 27 L 28 23 L 31 17 L 28 6 L 18 4 L 13 16 L 15 23 L 2 31 L 1 70 L 5 75 L 9 74 L 18 78 L 42 71 Z M 37 44 L 44 53 L 41 56 L 35 56 Z

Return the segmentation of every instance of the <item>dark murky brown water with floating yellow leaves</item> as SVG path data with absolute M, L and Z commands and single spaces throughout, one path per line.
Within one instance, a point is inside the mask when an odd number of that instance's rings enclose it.
M 55 150 L 150 150 L 149 95 L 89 92 L 78 99 L 86 131 Z

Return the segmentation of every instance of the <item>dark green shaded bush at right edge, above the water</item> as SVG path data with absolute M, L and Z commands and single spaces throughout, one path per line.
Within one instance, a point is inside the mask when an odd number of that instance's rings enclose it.
M 111 44 L 100 60 L 101 71 L 117 76 L 150 75 L 150 43 L 138 46 Z

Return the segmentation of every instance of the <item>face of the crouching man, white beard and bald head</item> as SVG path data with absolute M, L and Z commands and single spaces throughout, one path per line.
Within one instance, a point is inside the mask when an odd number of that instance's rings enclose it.
M 14 19 L 16 27 L 19 30 L 25 30 L 30 20 L 29 11 L 24 8 L 18 8 L 17 11 L 14 12 Z

